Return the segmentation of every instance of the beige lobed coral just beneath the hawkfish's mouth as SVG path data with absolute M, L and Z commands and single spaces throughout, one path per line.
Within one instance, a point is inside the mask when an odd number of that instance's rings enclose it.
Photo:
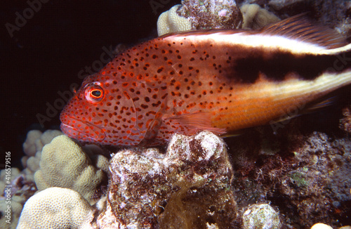
M 100 155 L 94 162 L 71 138 L 58 136 L 41 152 L 40 169 L 34 174 L 37 188 L 70 188 L 94 203 L 95 191 L 107 181 L 103 169 L 108 161 Z

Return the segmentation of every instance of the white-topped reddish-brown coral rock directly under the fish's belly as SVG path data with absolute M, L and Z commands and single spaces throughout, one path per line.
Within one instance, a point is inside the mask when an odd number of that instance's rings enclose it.
M 174 135 L 165 155 L 122 150 L 95 228 L 232 228 L 232 172 L 223 140 L 207 131 Z

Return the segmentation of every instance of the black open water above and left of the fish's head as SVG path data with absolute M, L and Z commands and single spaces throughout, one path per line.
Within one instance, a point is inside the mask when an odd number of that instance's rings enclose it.
M 29 0 L 34 1 L 34 0 Z M 158 2 L 153 11 L 150 3 Z M 48 0 L 27 19 L 13 37 L 6 23 L 16 25 L 27 1 L 0 3 L 1 155 L 11 151 L 12 166 L 19 166 L 27 131 L 40 129 L 36 115 L 46 116 L 47 103 L 60 98 L 58 91 L 81 84 L 79 71 L 100 60 L 102 47 L 133 45 L 157 37 L 157 18 L 179 1 L 173 0 Z M 59 113 L 45 129 L 58 129 Z M 5 157 L 4 157 L 5 158 Z M 4 167 L 0 159 L 0 169 Z

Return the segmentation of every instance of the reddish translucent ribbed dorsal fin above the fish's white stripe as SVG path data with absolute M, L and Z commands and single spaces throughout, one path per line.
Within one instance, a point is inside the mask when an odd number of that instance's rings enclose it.
M 306 13 L 267 25 L 260 32 L 262 34 L 281 35 L 290 39 L 318 44 L 328 49 L 347 45 L 346 39 L 336 30 L 311 20 Z

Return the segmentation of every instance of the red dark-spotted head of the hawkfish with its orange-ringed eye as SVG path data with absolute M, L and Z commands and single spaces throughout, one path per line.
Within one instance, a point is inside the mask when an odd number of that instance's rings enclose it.
M 133 100 L 109 77 L 86 77 L 62 110 L 60 121 L 63 133 L 89 143 L 133 145 L 138 139 L 131 140 L 137 131 Z

